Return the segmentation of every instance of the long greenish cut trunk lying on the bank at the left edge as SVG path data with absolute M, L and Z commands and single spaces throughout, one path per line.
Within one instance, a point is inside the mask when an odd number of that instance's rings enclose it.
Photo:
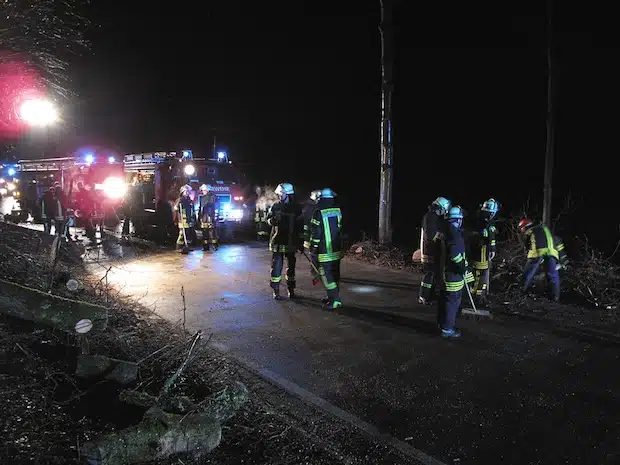
M 105 307 L 47 294 L 4 279 L 0 279 L 0 313 L 67 332 L 75 332 L 75 325 L 83 319 L 92 322 L 91 332 L 104 331 L 108 325 Z

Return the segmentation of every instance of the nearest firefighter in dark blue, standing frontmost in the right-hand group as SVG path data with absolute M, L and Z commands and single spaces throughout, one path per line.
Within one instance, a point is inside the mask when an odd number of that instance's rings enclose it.
M 435 236 L 435 242 L 440 245 L 440 255 L 437 258 L 441 277 L 437 324 L 441 329 L 442 337 L 455 338 L 461 336 L 455 324 L 467 274 L 465 239 L 462 230 L 463 209 L 459 206 L 451 207 L 446 219 L 444 235 Z

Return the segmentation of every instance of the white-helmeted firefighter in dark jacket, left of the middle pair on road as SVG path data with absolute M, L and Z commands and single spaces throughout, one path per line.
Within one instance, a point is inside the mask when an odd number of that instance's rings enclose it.
M 301 205 L 295 198 L 295 189 L 292 184 L 283 182 L 278 184 L 275 193 L 280 201 L 274 203 L 267 214 L 267 224 L 271 226 L 269 238 L 269 250 L 271 258 L 271 282 L 273 298 L 280 299 L 280 281 L 282 280 L 282 268 L 286 257 L 288 268 L 286 269 L 286 287 L 288 296 L 295 298 L 295 253 L 301 249 L 301 233 L 303 219 Z

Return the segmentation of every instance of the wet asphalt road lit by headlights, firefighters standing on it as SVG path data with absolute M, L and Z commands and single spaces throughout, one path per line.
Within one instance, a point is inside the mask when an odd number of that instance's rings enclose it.
M 301 299 L 274 301 L 269 265 L 264 243 L 228 245 L 125 261 L 108 279 L 445 464 L 620 463 L 619 347 L 502 319 L 461 320 L 463 337 L 443 340 L 419 276 L 357 261 L 343 262 L 342 309 L 320 308 L 300 255 Z

